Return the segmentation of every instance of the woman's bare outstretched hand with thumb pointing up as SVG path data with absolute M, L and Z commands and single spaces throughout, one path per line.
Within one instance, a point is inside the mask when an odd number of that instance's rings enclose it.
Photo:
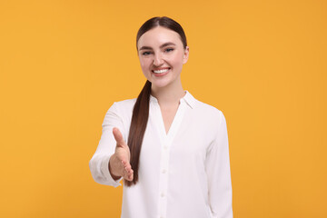
M 109 160 L 109 172 L 114 180 L 123 177 L 125 180 L 133 181 L 133 169 L 130 164 L 131 153 L 128 145 L 124 142 L 123 135 L 119 129 L 113 129 L 116 148 Z

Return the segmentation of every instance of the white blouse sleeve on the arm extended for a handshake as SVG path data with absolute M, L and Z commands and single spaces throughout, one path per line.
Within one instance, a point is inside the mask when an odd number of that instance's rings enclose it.
M 118 115 L 117 104 L 114 103 L 104 116 L 102 124 L 102 135 L 96 151 L 89 162 L 89 167 L 96 183 L 112 185 L 117 187 L 123 178 L 114 180 L 108 168 L 110 157 L 114 154 L 116 142 L 114 140 L 113 128 L 117 127 L 126 141 L 126 132 L 122 118 Z

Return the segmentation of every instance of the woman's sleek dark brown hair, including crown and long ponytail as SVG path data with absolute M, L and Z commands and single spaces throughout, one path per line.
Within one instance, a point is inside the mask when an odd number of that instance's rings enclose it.
M 156 26 L 162 26 L 167 29 L 173 30 L 181 37 L 181 41 L 183 43 L 183 47 L 186 48 L 186 36 L 183 32 L 183 28 L 173 19 L 166 16 L 155 16 L 144 23 L 137 32 L 136 35 L 136 49 L 138 49 L 137 43 L 142 35 L 147 31 L 153 29 Z M 127 181 L 124 180 L 124 184 L 127 186 L 131 186 L 138 182 L 138 168 L 139 168 L 139 159 L 141 146 L 144 139 L 144 133 L 146 129 L 146 124 L 149 118 L 149 102 L 150 102 L 150 94 L 151 94 L 151 82 L 146 81 L 144 84 L 144 88 L 141 93 L 138 95 L 136 99 L 136 103 L 134 104 L 131 127 L 129 130 L 128 141 L 127 144 L 129 146 L 131 152 L 131 166 L 134 170 L 134 180 Z

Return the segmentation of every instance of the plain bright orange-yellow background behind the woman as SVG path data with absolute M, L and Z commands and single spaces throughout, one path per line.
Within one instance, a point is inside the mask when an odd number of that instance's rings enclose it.
M 327 2 L 1 1 L 0 217 L 119 217 L 88 162 L 145 79 L 135 35 L 186 32 L 183 87 L 227 120 L 234 217 L 327 217 Z

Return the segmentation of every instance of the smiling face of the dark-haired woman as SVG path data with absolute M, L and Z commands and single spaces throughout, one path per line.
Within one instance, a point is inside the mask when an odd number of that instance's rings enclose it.
M 145 77 L 156 87 L 180 83 L 183 64 L 189 48 L 184 49 L 180 35 L 162 26 L 142 35 L 137 43 L 138 55 Z

